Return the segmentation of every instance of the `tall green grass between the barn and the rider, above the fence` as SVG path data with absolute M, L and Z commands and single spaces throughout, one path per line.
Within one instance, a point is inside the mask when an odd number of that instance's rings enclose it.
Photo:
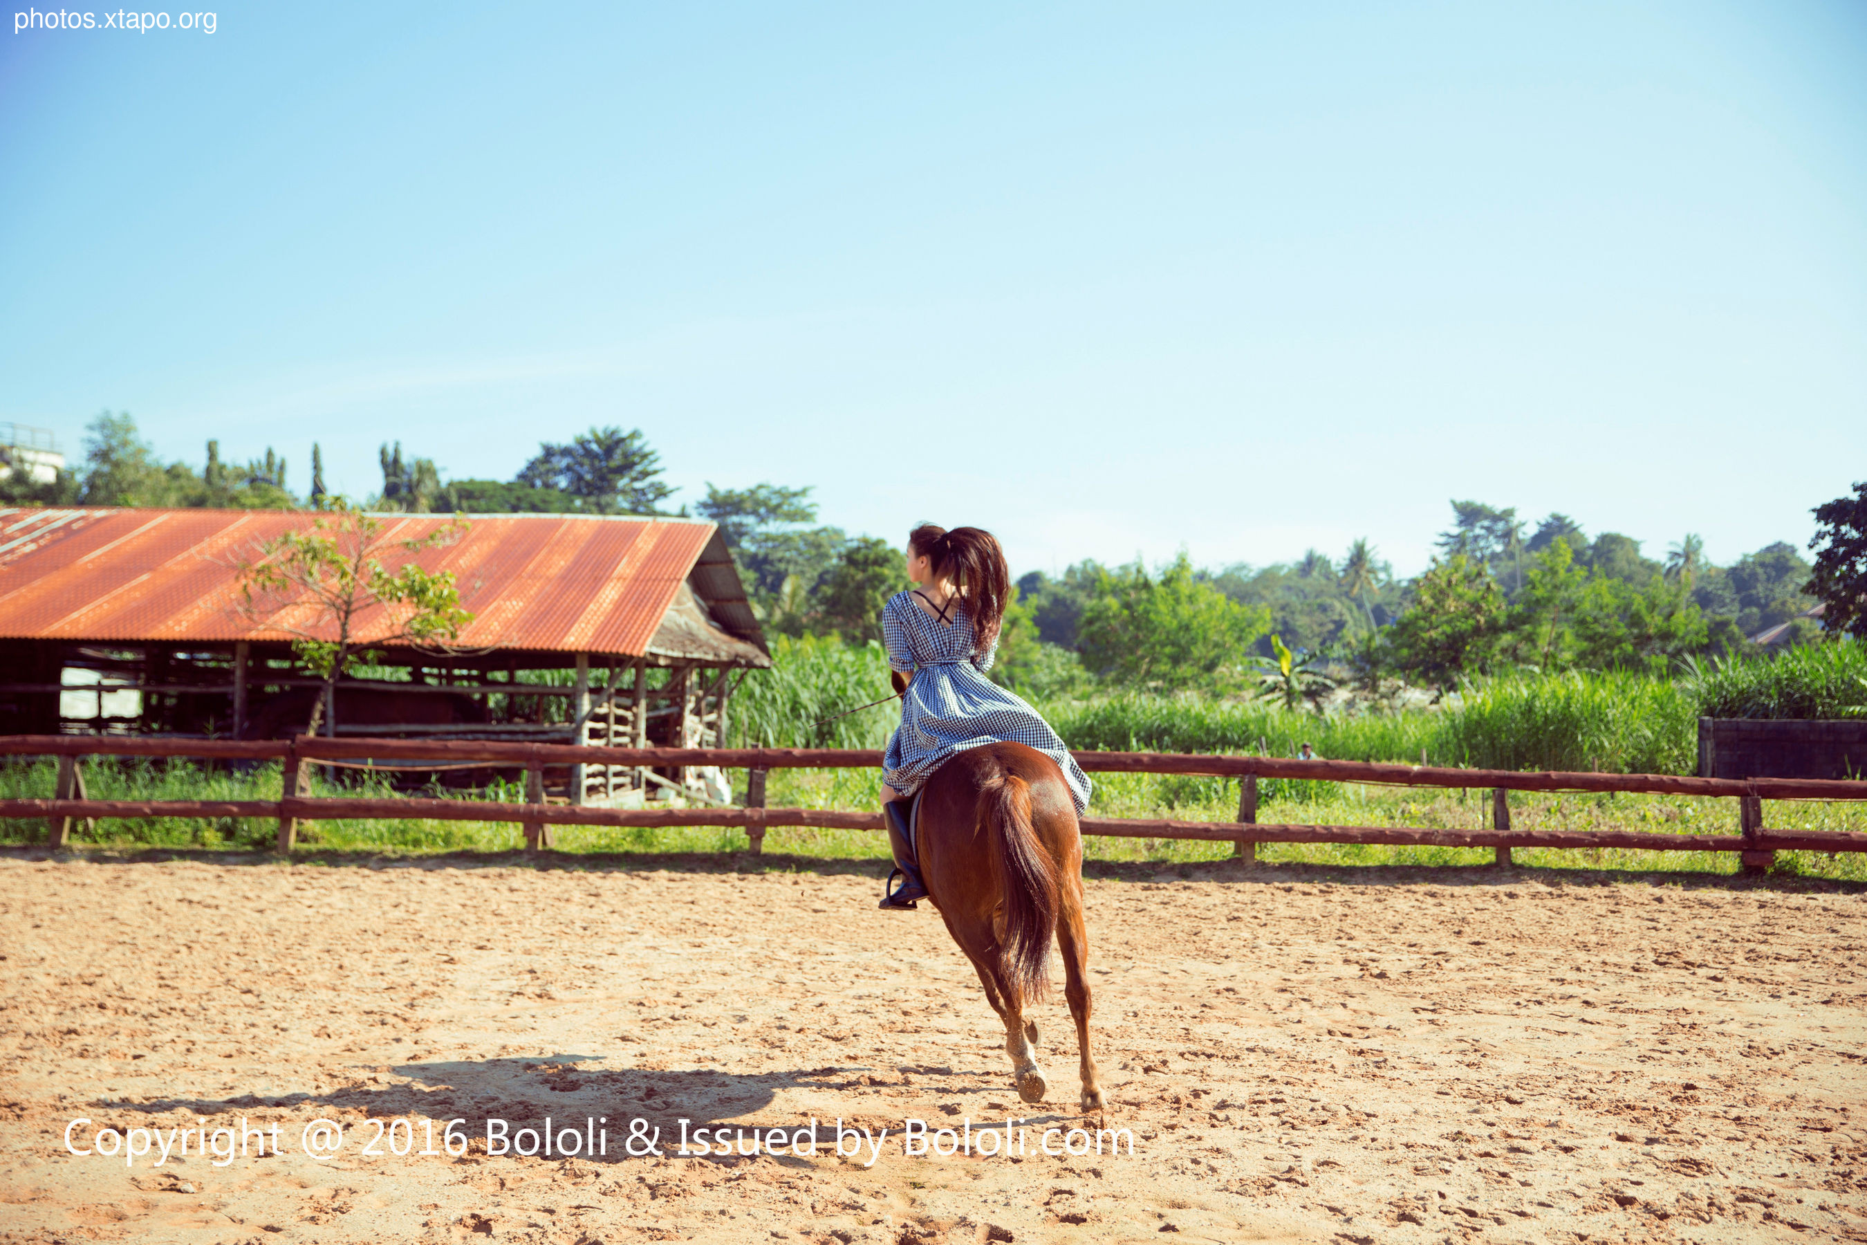
M 734 692 L 728 730 L 739 747 L 879 748 L 902 720 L 891 702 L 823 722 L 892 691 L 881 644 L 779 636 L 771 663 Z

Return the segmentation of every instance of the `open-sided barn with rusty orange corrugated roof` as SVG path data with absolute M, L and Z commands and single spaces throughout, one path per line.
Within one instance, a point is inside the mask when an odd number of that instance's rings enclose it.
M 0 734 L 301 734 L 319 681 L 302 612 L 243 605 L 241 566 L 319 515 L 0 508 Z M 323 734 L 584 745 L 724 743 L 732 692 L 771 664 L 719 528 L 612 515 L 375 515 L 388 569 L 452 571 L 472 622 L 444 650 L 385 644 L 338 683 Z M 401 541 L 465 521 L 444 545 Z M 329 519 L 327 519 L 329 523 Z M 299 623 L 297 627 L 293 623 Z M 388 635 L 381 609 L 353 635 Z M 695 773 L 566 767 L 558 797 L 704 797 Z

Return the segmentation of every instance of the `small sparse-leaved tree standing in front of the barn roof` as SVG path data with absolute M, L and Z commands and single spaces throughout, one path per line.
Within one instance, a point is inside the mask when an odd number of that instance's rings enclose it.
M 426 571 L 414 554 L 450 545 L 467 532 L 456 519 L 428 536 L 388 539 L 383 519 L 338 498 L 329 517 L 308 530 L 286 532 L 239 567 L 239 609 L 250 622 L 291 636 L 291 651 L 323 679 L 304 734 L 316 735 L 336 683 L 377 644 L 444 648 L 472 614 L 459 607 L 454 571 Z M 396 558 L 390 571 L 383 560 Z M 330 724 L 332 730 L 336 724 Z

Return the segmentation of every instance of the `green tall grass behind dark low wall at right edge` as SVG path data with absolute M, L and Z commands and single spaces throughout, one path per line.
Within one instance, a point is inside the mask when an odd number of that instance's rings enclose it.
M 1867 642 L 1835 638 L 1688 663 L 1699 717 L 1867 717 Z

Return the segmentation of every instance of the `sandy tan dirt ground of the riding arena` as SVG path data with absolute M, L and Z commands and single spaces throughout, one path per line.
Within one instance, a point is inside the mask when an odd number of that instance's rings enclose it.
M 0 857 L 0 1239 L 1867 1239 L 1858 888 L 1096 866 L 1133 1154 L 1051 1157 L 1090 1142 L 1047 1133 L 1083 1124 L 1060 1000 L 1025 1107 L 939 916 L 874 911 L 872 866 L 659 864 Z M 547 1116 L 607 1154 L 485 1154 Z M 681 1118 L 788 1148 L 681 1157 Z M 836 1157 L 838 1118 L 879 1157 Z M 975 1154 L 905 1155 L 909 1118 Z M 99 1133 L 151 1154 L 67 1152 Z

